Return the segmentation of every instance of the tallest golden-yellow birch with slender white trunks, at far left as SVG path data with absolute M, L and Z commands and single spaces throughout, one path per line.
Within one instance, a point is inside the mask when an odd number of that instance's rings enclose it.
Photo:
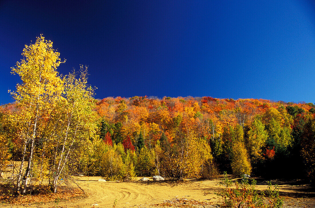
M 51 41 L 45 40 L 42 36 L 37 37 L 34 44 L 25 45 L 22 55 L 24 59 L 12 67 L 12 73 L 18 74 L 22 83 L 17 84 L 16 91 L 11 92 L 19 109 L 19 112 L 14 113 L 11 118 L 18 126 L 17 137 L 22 152 L 16 192 L 20 193 L 22 182 L 24 186 L 22 193 L 25 194 L 35 141 L 45 126 L 45 118 L 54 109 L 63 91 L 63 81 L 56 71 L 62 63 L 60 54 L 53 49 Z M 24 161 L 27 161 L 25 171 Z

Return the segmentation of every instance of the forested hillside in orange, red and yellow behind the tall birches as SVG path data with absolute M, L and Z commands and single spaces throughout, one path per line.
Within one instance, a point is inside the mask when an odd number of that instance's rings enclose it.
M 135 175 L 209 178 L 229 171 L 235 175 L 313 177 L 312 103 L 146 96 L 108 97 L 90 103 L 95 116 L 87 122 L 96 123 L 96 129 L 72 144 L 67 162 L 71 174 L 107 179 Z M 19 112 L 16 104 L 2 106 L 2 121 L 5 115 Z M 1 137 L 4 165 L 5 159 L 20 160 L 23 153 L 14 126 L 2 124 L 3 133 L 12 133 Z M 35 139 L 33 156 L 37 165 L 44 163 L 48 168 L 48 144 L 57 149 L 62 144 L 46 142 Z

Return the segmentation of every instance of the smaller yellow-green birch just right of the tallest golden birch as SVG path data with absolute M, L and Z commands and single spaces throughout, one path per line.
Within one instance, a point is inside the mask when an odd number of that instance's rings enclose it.
M 87 85 L 87 68 L 81 66 L 80 72 L 79 78 L 75 72 L 64 78 L 65 93 L 55 114 L 54 121 L 60 124 L 60 128 L 55 133 L 55 150 L 49 171 L 52 180 L 49 183 L 54 193 L 60 184 L 60 175 L 67 175 L 64 169 L 73 150 L 82 146 L 96 130 L 94 89 Z

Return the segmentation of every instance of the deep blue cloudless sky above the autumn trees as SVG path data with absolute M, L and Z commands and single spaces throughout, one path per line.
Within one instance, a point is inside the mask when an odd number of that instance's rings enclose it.
M 315 102 L 315 6 L 288 1 L 0 1 L 0 104 L 39 34 L 95 98 L 212 96 Z

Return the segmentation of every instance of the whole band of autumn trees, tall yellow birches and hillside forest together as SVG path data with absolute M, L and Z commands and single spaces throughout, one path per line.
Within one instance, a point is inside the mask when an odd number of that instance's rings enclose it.
M 87 70 L 61 76 L 42 36 L 12 68 L 22 84 L 1 107 L 0 171 L 15 194 L 73 174 L 314 178 L 315 105 L 212 97 L 93 98 Z M 18 161 L 18 162 L 16 162 Z

